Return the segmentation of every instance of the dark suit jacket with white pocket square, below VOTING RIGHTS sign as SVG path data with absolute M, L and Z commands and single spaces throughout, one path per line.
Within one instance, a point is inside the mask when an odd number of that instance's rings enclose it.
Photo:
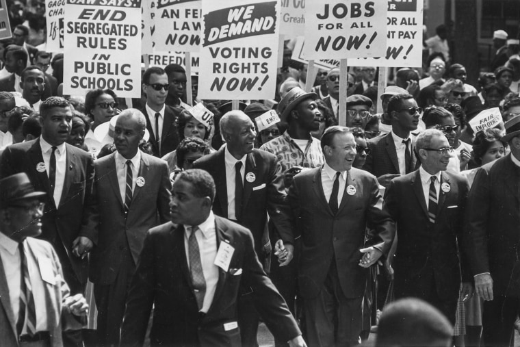
M 226 163 L 224 148 L 201 157 L 194 162 L 194 168 L 201 168 L 209 172 L 215 180 L 217 194 L 213 203 L 213 213 L 227 218 L 227 184 Z M 283 175 L 281 165 L 276 157 L 266 151 L 253 149 L 246 158 L 245 176 L 252 173 L 255 180 L 249 182 L 244 177 L 244 197 L 242 198 L 242 218 L 239 223 L 248 228 L 255 240 L 257 255 L 263 260 L 263 243 L 261 238 L 264 232 L 267 213 L 278 231 L 283 242 L 294 244 L 294 235 L 291 229 L 290 209 L 283 189 Z

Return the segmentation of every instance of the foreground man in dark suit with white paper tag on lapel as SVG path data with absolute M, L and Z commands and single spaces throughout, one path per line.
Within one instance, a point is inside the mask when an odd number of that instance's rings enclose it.
M 152 346 L 242 346 L 240 287 L 251 287 L 270 331 L 306 346 L 282 296 L 263 272 L 248 229 L 215 216 L 215 183 L 204 170 L 181 172 L 171 222 L 148 231 L 133 277 L 122 346 L 142 346 L 152 305 Z

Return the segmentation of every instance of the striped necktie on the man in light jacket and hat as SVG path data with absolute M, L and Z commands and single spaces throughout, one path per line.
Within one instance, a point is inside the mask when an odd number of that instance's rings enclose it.
M 23 242 L 18 244 L 18 250 L 20 250 L 22 272 L 20 287 L 20 311 L 18 312 L 16 330 L 18 335 L 22 335 L 23 327 L 25 326 L 25 333 L 33 336 L 34 333 L 36 333 L 36 309 L 34 305 L 34 297 L 32 295 L 31 281 L 29 279 L 29 268 L 27 267 L 27 257 L 25 256 Z

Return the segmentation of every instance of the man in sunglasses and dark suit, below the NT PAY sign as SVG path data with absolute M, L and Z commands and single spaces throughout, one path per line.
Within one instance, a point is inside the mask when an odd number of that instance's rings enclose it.
M 367 141 L 370 153 L 363 170 L 375 175 L 381 185 L 387 187 L 391 179 L 417 168 L 411 131 L 417 129 L 420 112 L 410 94 L 394 95 L 388 103 L 392 131 Z

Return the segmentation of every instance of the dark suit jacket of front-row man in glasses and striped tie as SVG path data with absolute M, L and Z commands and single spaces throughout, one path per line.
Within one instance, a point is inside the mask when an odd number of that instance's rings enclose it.
M 419 170 L 393 179 L 385 192 L 385 205 L 399 235 L 392 264 L 395 296 L 424 297 L 435 283 L 439 298 L 456 299 L 460 266 L 463 280 L 471 281 L 467 263 L 460 264 L 458 257 L 469 185 L 464 177 L 446 171 L 441 172 L 444 183 L 450 190 L 437 193 L 434 224 L 429 222 Z

